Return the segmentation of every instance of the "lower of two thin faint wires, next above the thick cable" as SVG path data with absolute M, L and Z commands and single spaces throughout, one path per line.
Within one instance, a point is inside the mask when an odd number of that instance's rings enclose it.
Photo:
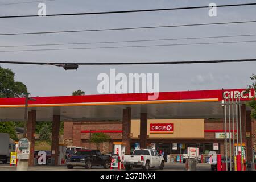
M 230 42 L 206 42 L 206 43 L 156 44 L 156 45 L 142 45 L 142 46 L 111 46 L 111 47 L 85 47 L 85 48 L 25 49 L 25 50 L 10 50 L 10 51 L 7 50 L 7 51 L 0 51 L 0 52 L 64 51 L 64 50 L 104 49 L 104 48 L 190 46 L 190 45 L 204 45 L 204 44 L 226 44 L 226 43 L 248 43 L 248 42 L 256 42 L 256 40 L 230 41 Z

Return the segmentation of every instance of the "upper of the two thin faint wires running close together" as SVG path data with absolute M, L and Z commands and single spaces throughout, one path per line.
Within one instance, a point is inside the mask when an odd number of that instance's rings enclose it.
M 201 36 L 193 38 L 166 38 L 166 39 L 140 39 L 140 40 L 117 40 L 117 41 L 105 41 L 105 42 L 78 42 L 78 43 L 52 43 L 52 44 L 23 44 L 23 45 L 9 45 L 0 47 L 28 47 L 28 46 L 64 46 L 64 45 L 77 45 L 77 44 L 105 44 L 105 43 L 130 43 L 130 42 L 154 42 L 154 41 L 164 41 L 164 40 L 190 40 L 190 39 L 212 39 L 212 38 L 234 38 L 243 36 L 256 36 L 256 34 L 246 34 L 246 35 L 224 35 L 224 36 Z

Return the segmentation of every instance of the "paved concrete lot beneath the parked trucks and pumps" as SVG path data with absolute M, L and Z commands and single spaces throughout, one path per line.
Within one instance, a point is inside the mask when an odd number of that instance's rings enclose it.
M 0 164 L 0 171 L 15 171 L 16 167 L 10 166 L 10 164 Z M 83 167 L 74 167 L 73 169 L 68 169 L 66 166 L 34 166 L 29 167 L 28 171 L 82 171 L 86 170 Z M 110 169 L 104 169 L 100 166 L 93 166 L 92 171 L 105 171 Z M 141 168 L 134 168 L 135 171 L 143 171 Z M 151 168 L 150 170 L 159 170 L 158 168 Z M 183 163 L 166 163 L 164 171 L 185 171 L 185 164 Z M 209 164 L 198 164 L 197 171 L 210 171 Z

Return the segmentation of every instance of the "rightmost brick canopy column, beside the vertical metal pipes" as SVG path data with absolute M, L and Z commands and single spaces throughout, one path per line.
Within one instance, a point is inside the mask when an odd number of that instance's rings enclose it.
M 252 123 L 253 119 L 250 117 L 251 111 L 246 111 L 246 132 L 250 133 L 250 137 L 246 137 L 246 159 L 252 162 L 253 159 L 253 138 L 252 138 Z

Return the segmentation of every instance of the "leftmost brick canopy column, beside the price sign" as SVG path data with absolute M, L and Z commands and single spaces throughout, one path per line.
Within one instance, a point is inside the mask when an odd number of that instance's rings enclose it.
M 34 166 L 35 125 L 36 110 L 32 110 L 28 112 L 27 116 L 27 139 L 30 141 L 30 159 L 28 159 L 28 166 Z

